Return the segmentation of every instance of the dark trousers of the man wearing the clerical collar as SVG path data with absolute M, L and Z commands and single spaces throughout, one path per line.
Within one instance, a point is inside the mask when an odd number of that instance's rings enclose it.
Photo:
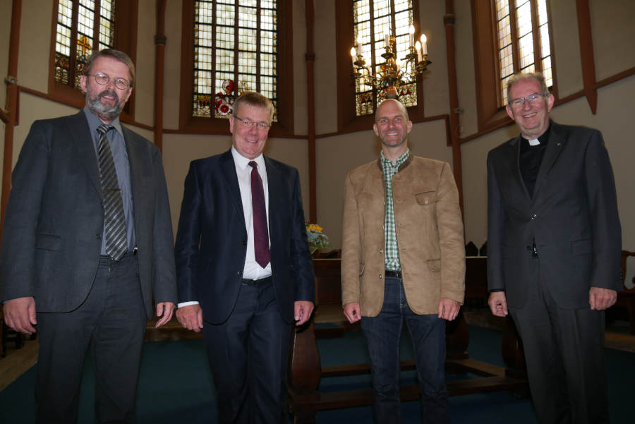
M 562 309 L 532 260 L 523 308 L 509 308 L 524 345 L 529 387 L 541 424 L 608 424 L 604 312 Z

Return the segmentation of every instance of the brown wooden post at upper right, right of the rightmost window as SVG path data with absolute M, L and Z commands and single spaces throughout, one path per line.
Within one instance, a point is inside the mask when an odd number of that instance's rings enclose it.
M 580 56 L 582 61 L 582 83 L 584 95 L 595 115 L 598 109 L 598 91 L 595 90 L 595 57 L 593 55 L 593 35 L 591 34 L 591 13 L 588 0 L 576 0 L 578 16 L 578 37 L 580 40 Z

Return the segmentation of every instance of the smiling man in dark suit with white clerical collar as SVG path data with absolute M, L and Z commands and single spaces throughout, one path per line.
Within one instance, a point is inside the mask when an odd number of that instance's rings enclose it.
M 520 135 L 488 155 L 490 308 L 524 344 L 540 423 L 608 423 L 604 310 L 622 286 L 622 231 L 602 134 L 549 119 L 538 73 L 507 83 Z

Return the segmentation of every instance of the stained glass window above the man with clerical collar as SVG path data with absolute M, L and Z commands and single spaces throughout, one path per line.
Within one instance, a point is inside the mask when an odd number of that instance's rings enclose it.
M 494 0 L 500 71 L 499 106 L 507 104 L 507 80 L 541 71 L 553 85 L 547 0 Z

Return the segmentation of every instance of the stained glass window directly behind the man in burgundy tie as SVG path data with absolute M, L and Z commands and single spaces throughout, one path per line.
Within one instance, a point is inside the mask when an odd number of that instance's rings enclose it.
M 193 72 L 193 116 L 229 117 L 246 91 L 275 106 L 276 0 L 195 1 Z

